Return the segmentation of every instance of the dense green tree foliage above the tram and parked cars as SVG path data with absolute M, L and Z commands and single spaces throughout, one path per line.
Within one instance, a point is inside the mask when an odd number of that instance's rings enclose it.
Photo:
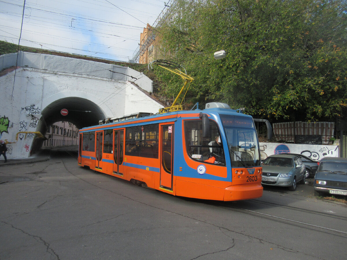
M 186 101 L 220 101 L 272 120 L 347 116 L 346 1 L 177 0 L 158 28 L 195 80 Z M 213 53 L 227 57 L 214 60 Z M 177 79 L 158 73 L 167 96 Z

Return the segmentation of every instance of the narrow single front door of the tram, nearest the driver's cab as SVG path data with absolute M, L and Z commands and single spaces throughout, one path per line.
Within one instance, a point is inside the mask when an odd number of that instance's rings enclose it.
M 161 125 L 160 187 L 168 189 L 172 189 L 173 133 L 174 124 Z

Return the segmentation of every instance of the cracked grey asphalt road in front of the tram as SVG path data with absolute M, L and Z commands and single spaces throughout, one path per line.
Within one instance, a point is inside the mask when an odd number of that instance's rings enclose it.
M 345 259 L 347 207 L 265 188 L 216 202 L 174 197 L 77 165 L 0 167 L 0 259 Z

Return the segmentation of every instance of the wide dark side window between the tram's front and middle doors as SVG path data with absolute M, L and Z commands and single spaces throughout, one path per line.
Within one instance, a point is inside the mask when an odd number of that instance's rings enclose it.
M 125 134 L 125 155 L 158 158 L 159 124 L 128 127 Z

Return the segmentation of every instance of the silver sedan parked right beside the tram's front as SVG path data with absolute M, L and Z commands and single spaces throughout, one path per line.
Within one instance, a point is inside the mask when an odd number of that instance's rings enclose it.
M 263 185 L 283 186 L 295 191 L 297 183 L 305 184 L 305 165 L 295 155 L 274 154 L 262 164 Z

